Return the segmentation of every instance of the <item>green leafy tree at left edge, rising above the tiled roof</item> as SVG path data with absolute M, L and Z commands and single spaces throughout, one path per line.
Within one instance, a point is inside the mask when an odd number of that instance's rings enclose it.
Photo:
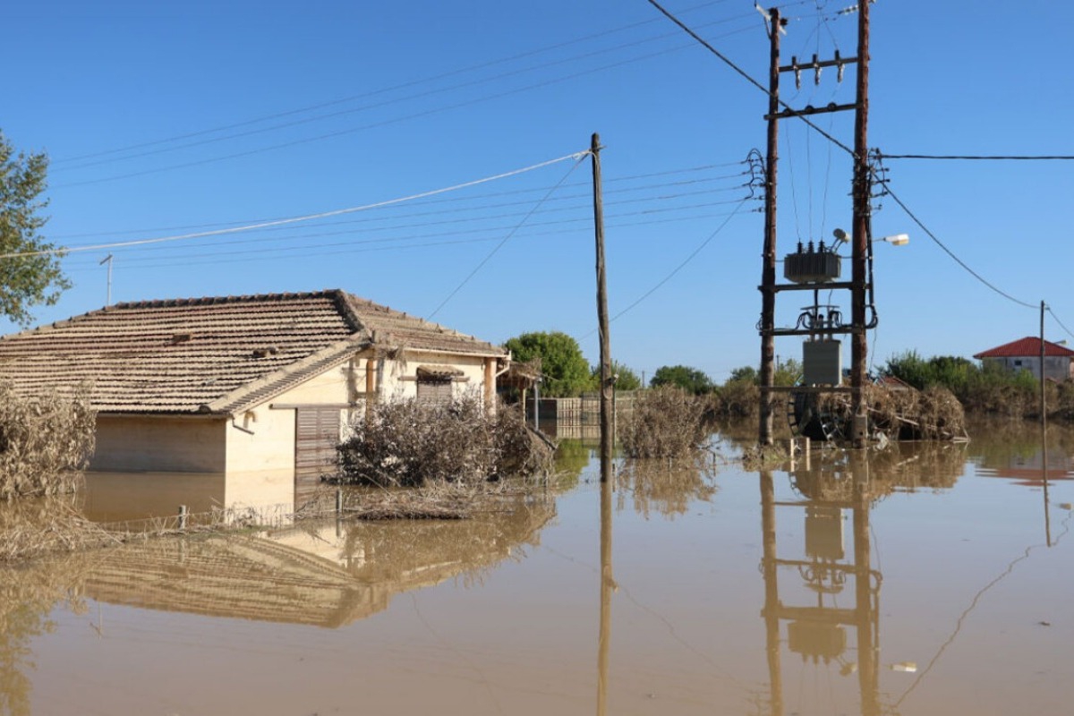
M 0 253 L 6 257 L 0 260 L 0 315 L 21 326 L 33 320 L 33 306 L 52 306 L 71 288 L 61 253 L 38 233 L 48 220 L 40 214 L 48 205 L 40 199 L 47 169 L 48 157 L 16 154 L 0 132 Z

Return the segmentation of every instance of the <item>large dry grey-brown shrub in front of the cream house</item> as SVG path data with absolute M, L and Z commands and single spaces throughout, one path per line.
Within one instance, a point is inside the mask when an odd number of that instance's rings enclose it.
M 381 487 L 533 474 L 550 467 L 553 454 L 514 410 L 490 414 L 473 395 L 377 404 L 350 428 L 339 445 L 339 479 Z

